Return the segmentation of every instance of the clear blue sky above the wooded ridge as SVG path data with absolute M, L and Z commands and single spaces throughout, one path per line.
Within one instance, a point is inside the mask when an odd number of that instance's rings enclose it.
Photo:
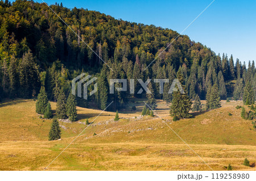
M 213 0 L 44 1 L 48 4 L 63 2 L 68 8 L 83 7 L 116 19 L 154 24 L 180 33 Z M 216 54 L 227 53 L 229 57 L 233 54 L 246 63 L 256 61 L 256 1 L 216 0 L 183 34 L 207 45 Z

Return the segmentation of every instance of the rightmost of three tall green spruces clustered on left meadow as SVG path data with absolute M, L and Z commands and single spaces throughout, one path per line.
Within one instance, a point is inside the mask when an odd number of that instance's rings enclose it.
M 77 110 L 76 110 L 76 98 L 72 93 L 69 94 L 67 100 L 67 116 L 70 121 L 76 121 L 77 119 Z

